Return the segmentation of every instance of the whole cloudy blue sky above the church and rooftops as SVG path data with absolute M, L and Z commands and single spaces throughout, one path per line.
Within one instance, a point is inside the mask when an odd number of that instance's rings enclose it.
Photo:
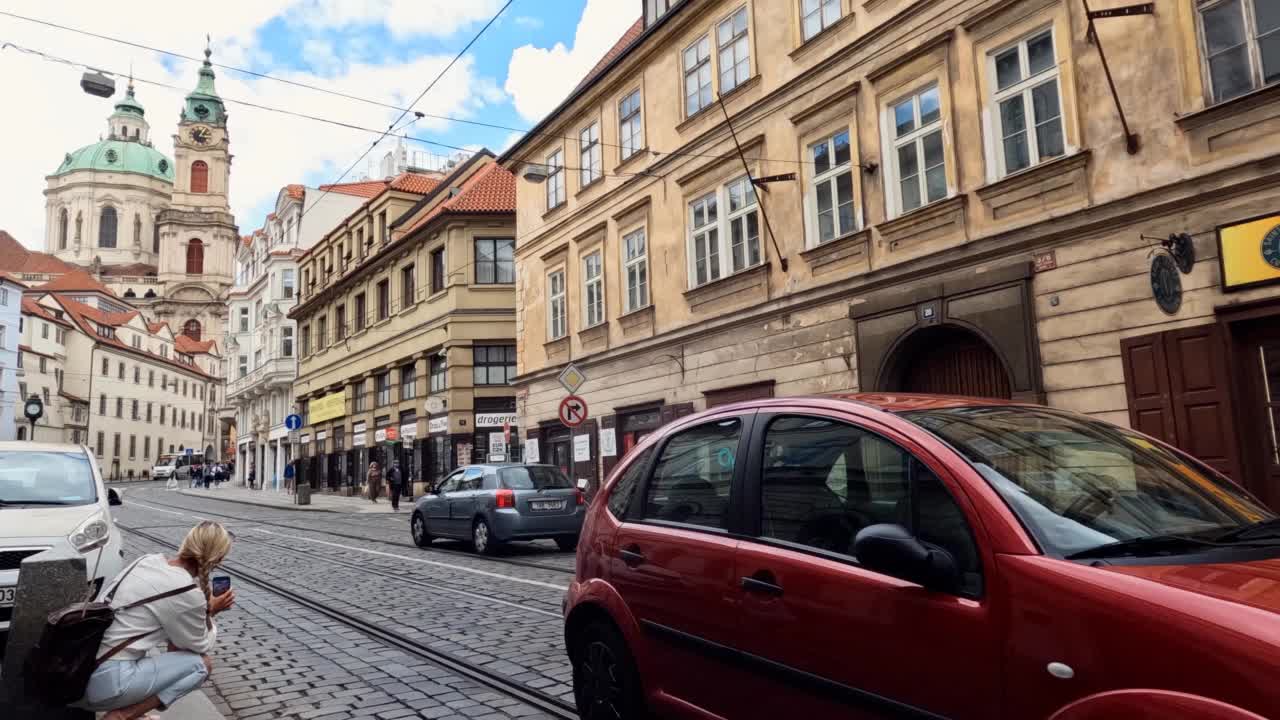
M 506 0 L 0 0 L 14 13 L 161 50 L 201 56 L 206 33 L 214 61 L 388 102 L 411 102 Z M 499 20 L 417 104 L 416 110 L 530 128 L 563 100 L 636 18 L 641 0 L 513 0 Z M 5 46 L 13 44 L 18 47 Z M 63 155 L 96 142 L 137 78 L 151 141 L 173 158 L 183 97 L 198 63 L 49 28 L 0 14 L 0 229 L 44 250 L 45 177 Z M 24 50 L 42 53 L 38 56 Z M 116 95 L 79 88 L 83 67 L 115 73 Z M 334 182 L 378 133 L 340 128 L 234 102 L 242 100 L 385 129 L 399 114 L 358 100 L 216 69 L 228 102 L 232 211 L 241 233 L 262 225 L 280 187 Z M 177 86 L 160 87 L 145 81 Z M 500 152 L 520 132 L 424 118 L 404 133 Z M 347 179 L 372 169 L 394 146 L 384 140 Z M 407 142 L 410 150 L 453 150 Z M 376 170 L 374 170 L 376 172 Z

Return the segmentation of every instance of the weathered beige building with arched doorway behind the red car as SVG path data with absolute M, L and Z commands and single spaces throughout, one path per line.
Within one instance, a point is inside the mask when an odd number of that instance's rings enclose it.
M 500 159 L 544 461 L 599 478 L 731 400 L 947 392 L 1138 427 L 1280 503 L 1266 3 L 671 5 Z

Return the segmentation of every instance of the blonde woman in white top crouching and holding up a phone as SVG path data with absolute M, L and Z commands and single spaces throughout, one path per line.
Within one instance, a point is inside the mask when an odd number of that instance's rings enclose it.
M 210 594 L 209 574 L 230 550 L 227 528 L 205 521 L 187 533 L 175 557 L 146 555 L 104 588 L 104 593 L 116 588 L 111 598 L 115 607 L 187 589 L 115 614 L 99 657 L 114 655 L 90 676 L 77 706 L 105 711 L 102 720 L 133 720 L 168 708 L 205 682 L 218 638 L 214 615 L 236 602 L 232 591 Z M 147 656 L 148 650 L 161 646 L 169 652 Z

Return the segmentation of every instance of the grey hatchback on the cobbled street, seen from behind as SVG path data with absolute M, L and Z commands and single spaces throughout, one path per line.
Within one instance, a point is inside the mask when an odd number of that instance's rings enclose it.
M 586 497 L 554 465 L 467 465 L 417 501 L 410 530 L 419 547 L 454 538 L 492 555 L 511 541 L 554 539 L 570 551 L 585 515 Z

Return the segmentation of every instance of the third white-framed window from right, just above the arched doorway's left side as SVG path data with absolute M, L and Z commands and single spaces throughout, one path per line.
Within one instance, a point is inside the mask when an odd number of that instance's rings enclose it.
M 938 86 L 890 108 L 893 163 L 890 169 L 891 213 L 899 215 L 947 196 L 947 168 L 942 154 L 942 110 Z

